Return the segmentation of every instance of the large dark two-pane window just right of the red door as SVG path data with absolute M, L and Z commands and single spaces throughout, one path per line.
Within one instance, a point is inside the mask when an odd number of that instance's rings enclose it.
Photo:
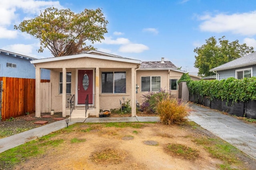
M 102 72 L 101 73 L 101 93 L 126 93 L 126 72 Z

